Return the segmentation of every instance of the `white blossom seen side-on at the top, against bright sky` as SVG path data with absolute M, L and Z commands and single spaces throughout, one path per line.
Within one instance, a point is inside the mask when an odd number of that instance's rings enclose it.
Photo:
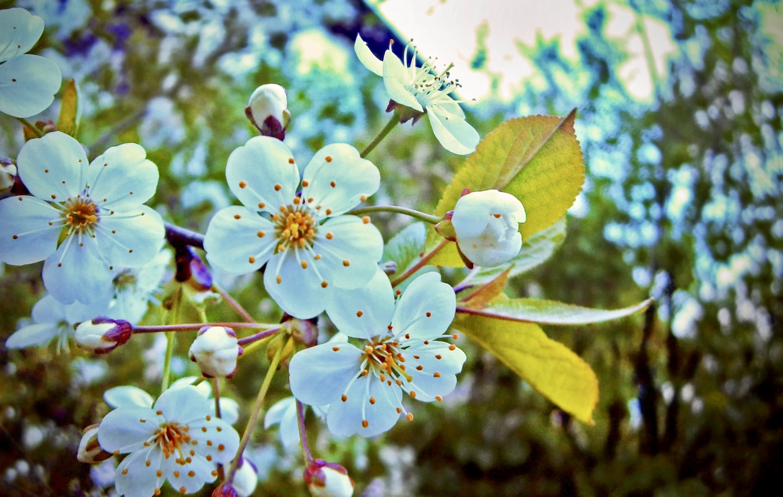
M 465 113 L 459 103 L 449 93 L 456 88 L 455 81 L 449 81 L 449 66 L 440 74 L 435 74 L 435 64 L 427 59 L 422 67 L 416 67 L 416 47 L 410 54 L 410 43 L 405 47 L 405 58 L 400 61 L 391 48 L 384 53 L 381 61 L 359 34 L 354 43 L 356 56 L 364 67 L 384 78 L 384 87 L 392 100 L 410 107 L 430 118 L 432 132 L 443 148 L 452 153 L 465 155 L 476 149 L 478 132 L 465 121 Z

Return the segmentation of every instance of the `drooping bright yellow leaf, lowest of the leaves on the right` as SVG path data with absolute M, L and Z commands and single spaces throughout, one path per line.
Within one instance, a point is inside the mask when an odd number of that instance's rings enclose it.
M 593 423 L 598 379 L 565 345 L 529 322 L 509 322 L 458 312 L 452 327 L 476 340 L 539 394 L 583 423 Z

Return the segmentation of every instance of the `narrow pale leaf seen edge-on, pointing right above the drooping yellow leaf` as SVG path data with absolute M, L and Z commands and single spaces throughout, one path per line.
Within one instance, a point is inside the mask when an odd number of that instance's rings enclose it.
M 515 298 L 494 304 L 480 313 L 485 317 L 516 322 L 536 322 L 547 325 L 583 325 L 593 322 L 611 321 L 644 311 L 652 303 L 648 298 L 630 307 L 604 311 L 557 301 L 536 298 Z M 477 312 L 477 311 L 470 311 Z

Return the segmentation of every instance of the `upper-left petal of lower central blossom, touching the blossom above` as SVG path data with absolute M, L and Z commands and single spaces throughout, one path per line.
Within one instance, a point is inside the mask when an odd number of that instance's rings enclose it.
M 394 314 L 394 290 L 388 276 L 377 269 L 373 279 L 353 290 L 334 289 L 327 304 L 329 319 L 348 337 L 370 339 L 388 333 Z

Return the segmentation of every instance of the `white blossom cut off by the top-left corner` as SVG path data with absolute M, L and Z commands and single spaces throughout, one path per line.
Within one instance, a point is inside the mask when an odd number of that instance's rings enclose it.
M 28 54 L 44 21 L 25 9 L 0 10 L 0 112 L 31 117 L 52 105 L 62 75 L 50 59 Z

